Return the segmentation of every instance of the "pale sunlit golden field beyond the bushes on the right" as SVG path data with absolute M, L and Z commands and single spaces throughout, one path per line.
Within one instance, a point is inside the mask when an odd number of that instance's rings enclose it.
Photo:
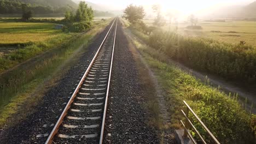
M 153 20 L 144 20 L 148 25 L 152 25 Z M 231 44 L 238 44 L 246 41 L 247 44 L 256 47 L 256 21 L 199 21 L 197 25 L 202 29 L 187 29 L 190 23 L 172 23 L 163 27 L 166 31 L 177 31 L 185 36 L 204 37 L 223 41 Z

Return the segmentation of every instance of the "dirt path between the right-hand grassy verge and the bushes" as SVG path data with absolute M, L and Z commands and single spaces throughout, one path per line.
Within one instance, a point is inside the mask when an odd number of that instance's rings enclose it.
M 130 29 L 128 29 L 128 28 L 126 28 L 126 34 L 130 35 L 130 37 L 139 41 L 140 43 L 145 44 L 142 40 L 137 38 L 136 35 L 132 34 Z M 189 68 L 179 62 L 173 61 L 172 59 L 168 59 L 168 63 L 175 64 L 175 65 L 177 65 L 177 67 L 179 67 L 180 69 L 182 69 L 183 71 L 186 71 L 188 73 L 191 70 L 191 68 Z M 218 86 L 220 86 L 220 90 L 222 90 L 223 92 L 225 92 L 227 94 L 238 93 L 238 96 L 240 97 L 240 102 L 242 105 L 245 105 L 244 104 L 245 99 L 247 98 L 247 110 L 251 111 L 251 104 L 253 104 L 252 113 L 254 113 L 254 114 L 256 113 L 256 96 L 255 96 L 256 94 L 255 94 L 255 92 L 247 91 L 246 89 L 235 86 L 234 84 L 231 84 L 230 82 L 227 82 L 227 81 L 221 79 L 220 77 L 206 74 L 206 73 L 201 73 L 196 70 L 192 71 L 192 75 L 195 76 L 197 79 L 200 79 L 201 81 L 204 81 L 205 77 L 207 75 L 207 78 L 210 80 L 210 83 L 212 84 L 213 87 L 217 88 Z

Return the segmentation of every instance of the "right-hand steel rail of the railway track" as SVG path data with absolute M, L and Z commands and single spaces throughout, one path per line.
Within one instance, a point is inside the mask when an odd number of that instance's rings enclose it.
M 118 20 L 117 20 L 118 22 Z M 111 64 L 110 64 L 110 70 L 109 70 L 109 77 L 108 77 L 108 87 L 107 87 L 107 93 L 106 93 L 106 100 L 105 100 L 105 106 L 104 106 L 104 113 L 102 118 L 102 124 L 101 124 L 101 137 L 100 137 L 100 144 L 103 143 L 103 135 L 104 135 L 104 125 L 106 120 L 106 113 L 107 113 L 107 104 L 108 104 L 108 92 L 110 87 L 110 78 L 111 78 L 111 71 L 112 71 L 112 64 L 113 64 L 113 57 L 114 57 L 114 49 L 115 49 L 115 38 L 117 36 L 117 23 L 115 25 L 115 36 L 114 36 L 114 44 L 113 44 L 113 50 L 112 50 L 112 58 L 111 58 Z

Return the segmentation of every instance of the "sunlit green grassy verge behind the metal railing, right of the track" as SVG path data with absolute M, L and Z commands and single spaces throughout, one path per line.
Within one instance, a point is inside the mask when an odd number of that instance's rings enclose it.
M 229 97 L 209 86 L 207 82 L 202 83 L 184 73 L 176 65 L 167 64 L 168 56 L 165 53 L 136 41 L 135 44 L 167 93 L 166 100 L 167 105 L 170 105 L 168 111 L 172 113 L 173 128 L 180 128 L 179 120 L 183 119 L 180 109 L 183 109 L 182 100 L 186 100 L 221 143 L 254 142 L 251 126 L 255 127 L 255 124 L 251 125 L 251 122 L 255 119 L 240 106 L 236 97 Z M 193 122 L 209 140 L 199 123 L 195 119 Z

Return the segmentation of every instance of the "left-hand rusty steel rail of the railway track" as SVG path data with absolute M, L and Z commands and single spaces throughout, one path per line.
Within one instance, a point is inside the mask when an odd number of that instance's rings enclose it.
M 95 61 L 95 59 L 96 59 L 98 53 L 100 52 L 102 45 L 104 44 L 105 40 L 107 39 L 108 34 L 109 34 L 110 30 L 112 29 L 112 27 L 113 27 L 115 21 L 117 21 L 117 18 L 114 19 L 114 21 L 113 21 L 111 27 L 109 28 L 109 30 L 108 30 L 106 36 L 104 37 L 104 39 L 103 39 L 103 41 L 102 41 L 100 47 L 98 47 L 98 50 L 97 50 L 97 52 L 96 52 L 94 58 L 92 58 L 92 61 L 91 61 L 90 65 L 89 65 L 88 68 L 86 69 L 86 71 L 85 71 L 85 73 L 84 73 L 82 79 L 80 80 L 80 82 L 79 82 L 77 88 L 75 88 L 74 93 L 72 94 L 71 98 L 69 99 L 69 101 L 68 101 L 68 103 L 67 103 L 65 109 L 62 111 L 61 116 L 59 117 L 59 119 L 58 119 L 57 123 L 55 124 L 53 130 L 51 131 L 50 135 L 48 136 L 48 139 L 46 140 L 45 144 L 49 144 L 49 143 L 52 143 L 52 142 L 53 142 L 54 136 L 57 134 L 57 131 L 59 130 L 59 127 L 60 127 L 60 125 L 61 125 L 61 123 L 62 123 L 62 121 L 63 121 L 63 118 L 65 118 L 65 116 L 67 115 L 67 112 L 68 112 L 68 110 L 69 110 L 71 104 L 73 103 L 75 96 L 77 95 L 77 93 L 78 93 L 80 87 L 82 86 L 82 84 L 83 84 L 83 82 L 84 82 L 86 76 L 88 75 L 88 72 L 89 72 L 89 70 L 91 69 L 91 66 L 92 66 L 92 64 L 94 63 L 94 61 Z

